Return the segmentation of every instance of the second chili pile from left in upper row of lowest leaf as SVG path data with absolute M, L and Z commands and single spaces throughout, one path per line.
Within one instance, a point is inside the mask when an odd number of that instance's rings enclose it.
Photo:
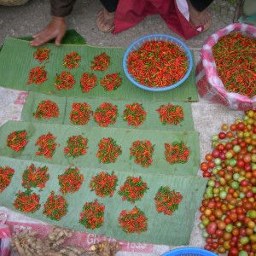
M 39 188 L 44 189 L 46 182 L 49 180 L 49 173 L 47 173 L 48 167 L 38 167 L 34 164 L 26 167 L 26 170 L 22 173 L 22 186 L 25 189 Z

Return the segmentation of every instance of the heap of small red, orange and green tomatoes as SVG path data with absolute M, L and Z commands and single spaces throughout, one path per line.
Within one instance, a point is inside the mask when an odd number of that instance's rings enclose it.
M 235 256 L 256 255 L 256 110 L 222 125 L 212 153 L 201 162 L 209 177 L 201 201 L 205 249 Z

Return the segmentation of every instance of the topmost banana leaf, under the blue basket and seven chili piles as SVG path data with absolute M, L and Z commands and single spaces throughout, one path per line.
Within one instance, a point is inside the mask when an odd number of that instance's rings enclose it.
M 5 38 L 3 47 L 0 51 L 0 86 L 15 90 L 37 91 L 45 94 L 55 94 L 58 96 L 79 96 L 106 98 L 116 100 L 134 101 L 198 101 L 198 93 L 195 86 L 195 68 L 190 73 L 189 78 L 180 86 L 168 91 L 152 92 L 137 88 L 125 77 L 122 68 L 124 48 L 96 47 L 88 44 L 62 44 L 56 47 L 55 44 L 45 44 L 51 50 L 49 61 L 39 64 L 33 58 L 35 48 L 32 48 L 28 41 L 19 38 Z M 63 60 L 71 52 L 77 52 L 81 56 L 79 67 L 68 70 L 63 66 Z M 90 64 L 96 55 L 106 52 L 110 56 L 110 66 L 107 71 L 95 71 L 98 84 L 88 93 L 82 92 L 79 80 L 83 73 L 91 73 Z M 45 67 L 47 80 L 42 84 L 27 84 L 29 73 L 34 67 Z M 55 88 L 56 74 L 63 71 L 70 71 L 76 83 L 70 90 L 57 90 Z M 104 90 L 99 84 L 100 81 L 111 73 L 119 73 L 122 84 L 116 90 Z

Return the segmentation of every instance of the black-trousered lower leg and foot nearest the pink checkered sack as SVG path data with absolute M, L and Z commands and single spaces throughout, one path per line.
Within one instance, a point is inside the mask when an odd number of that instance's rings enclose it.
M 206 10 L 213 0 L 187 0 L 189 5 L 190 23 L 197 27 L 203 26 L 203 30 L 207 30 L 212 23 L 212 16 Z

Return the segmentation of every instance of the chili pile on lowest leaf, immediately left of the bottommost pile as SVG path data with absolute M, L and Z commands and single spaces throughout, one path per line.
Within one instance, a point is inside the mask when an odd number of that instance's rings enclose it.
M 83 211 L 80 212 L 79 223 L 86 229 L 95 230 L 102 226 L 104 222 L 105 206 L 99 204 L 97 200 L 86 202 Z

